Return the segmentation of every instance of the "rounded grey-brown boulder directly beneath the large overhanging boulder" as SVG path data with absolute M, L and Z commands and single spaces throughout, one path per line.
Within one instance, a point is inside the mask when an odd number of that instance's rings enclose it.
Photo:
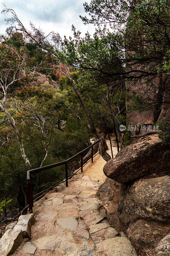
M 118 208 L 119 218 L 126 226 L 139 218 L 169 223 L 169 191 L 169 176 L 123 184 Z

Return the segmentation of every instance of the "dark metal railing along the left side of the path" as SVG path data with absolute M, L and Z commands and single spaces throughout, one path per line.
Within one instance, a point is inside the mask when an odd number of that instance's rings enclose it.
M 41 193 L 46 192 L 47 190 L 50 190 L 50 189 L 54 188 L 55 186 L 57 186 L 57 185 L 59 185 L 59 184 L 65 182 L 65 181 L 66 181 L 66 187 L 68 187 L 68 179 L 72 178 L 72 177 L 75 175 L 75 173 L 77 173 L 79 170 L 81 170 L 81 172 L 83 172 L 83 166 L 85 166 L 87 163 L 89 163 L 89 161 L 91 161 L 91 162 L 93 163 L 93 158 L 94 158 L 96 155 L 100 154 L 100 151 L 99 151 L 95 156 L 93 156 L 93 146 L 96 145 L 97 143 L 99 143 L 99 141 L 100 141 L 100 140 L 95 141 L 92 145 L 90 145 L 89 147 L 83 149 L 81 152 L 77 153 L 76 155 L 70 157 L 69 159 L 67 159 L 67 160 L 65 160 L 65 161 L 62 161 L 62 162 L 60 162 L 60 163 L 55 163 L 55 164 L 50 164 L 50 165 L 42 166 L 42 167 L 39 167 L 39 168 L 36 168 L 36 169 L 32 169 L 32 170 L 27 171 L 27 189 L 28 189 L 28 203 L 29 203 L 29 212 L 30 212 L 30 213 L 32 212 L 32 207 L 33 207 L 34 202 L 35 202 L 35 200 L 33 201 L 33 197 L 38 196 L 38 195 L 40 195 Z M 90 158 L 90 160 L 89 160 L 87 163 L 85 163 L 85 164 L 83 165 L 83 153 L 84 153 L 85 151 L 87 151 L 88 149 L 90 149 L 90 148 L 91 148 L 91 158 Z M 76 158 L 77 156 L 80 156 L 80 155 L 81 155 L 81 168 L 78 169 L 76 172 L 74 172 L 74 174 L 72 174 L 72 175 L 68 178 L 68 163 L 69 163 L 70 161 L 72 161 L 74 158 Z M 46 190 L 41 191 L 40 193 L 38 193 L 38 194 L 36 194 L 36 195 L 33 196 L 33 194 L 32 194 L 32 180 L 31 180 L 32 174 L 33 174 L 33 173 L 37 173 L 37 172 L 41 172 L 41 171 L 44 171 L 44 170 L 47 170 L 47 169 L 52 169 L 52 168 L 57 167 L 57 166 L 60 166 L 60 165 L 65 165 L 66 179 L 63 180 L 63 181 L 61 181 L 60 183 L 58 183 L 58 184 L 56 184 L 56 185 L 54 185 L 54 186 L 52 186 L 52 187 L 50 187 L 50 188 L 47 188 Z

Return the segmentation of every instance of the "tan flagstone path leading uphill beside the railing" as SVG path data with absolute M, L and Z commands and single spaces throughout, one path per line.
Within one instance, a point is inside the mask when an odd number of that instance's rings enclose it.
M 97 156 L 101 158 L 101 156 Z M 136 256 L 126 237 L 121 237 L 106 220 L 106 211 L 96 193 L 104 182 L 102 161 L 97 172 L 95 161 L 90 170 L 74 175 L 68 188 L 58 186 L 34 206 L 35 224 L 15 256 Z M 97 173 L 101 175 L 97 176 Z M 103 180 L 101 180 L 103 177 Z

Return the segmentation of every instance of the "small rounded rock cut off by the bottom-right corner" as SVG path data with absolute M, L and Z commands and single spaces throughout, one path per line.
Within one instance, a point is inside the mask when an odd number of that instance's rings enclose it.
M 155 248 L 154 256 L 169 256 L 170 255 L 170 234 L 160 240 Z

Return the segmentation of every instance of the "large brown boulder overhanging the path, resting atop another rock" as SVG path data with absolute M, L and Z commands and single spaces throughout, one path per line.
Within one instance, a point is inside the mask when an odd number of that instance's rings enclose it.
M 170 174 L 170 148 L 163 145 L 157 135 L 148 136 L 121 149 L 104 165 L 103 172 L 121 183 L 154 173 L 159 176 Z

